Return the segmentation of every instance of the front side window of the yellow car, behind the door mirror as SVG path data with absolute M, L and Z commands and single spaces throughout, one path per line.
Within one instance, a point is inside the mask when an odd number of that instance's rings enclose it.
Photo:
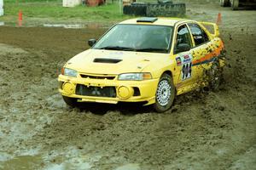
M 183 51 L 189 51 L 192 48 L 191 37 L 189 29 L 186 25 L 177 28 L 177 37 L 175 42 L 174 54 Z

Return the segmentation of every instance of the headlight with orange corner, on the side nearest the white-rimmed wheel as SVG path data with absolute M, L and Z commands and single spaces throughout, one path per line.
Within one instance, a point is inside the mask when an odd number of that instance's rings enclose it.
M 149 72 L 143 73 L 124 73 L 119 75 L 119 80 L 148 80 L 152 79 L 152 76 Z

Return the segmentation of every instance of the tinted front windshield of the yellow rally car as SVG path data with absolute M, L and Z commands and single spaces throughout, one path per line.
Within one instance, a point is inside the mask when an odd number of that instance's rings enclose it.
M 172 26 L 116 25 L 94 46 L 95 49 L 168 53 Z

